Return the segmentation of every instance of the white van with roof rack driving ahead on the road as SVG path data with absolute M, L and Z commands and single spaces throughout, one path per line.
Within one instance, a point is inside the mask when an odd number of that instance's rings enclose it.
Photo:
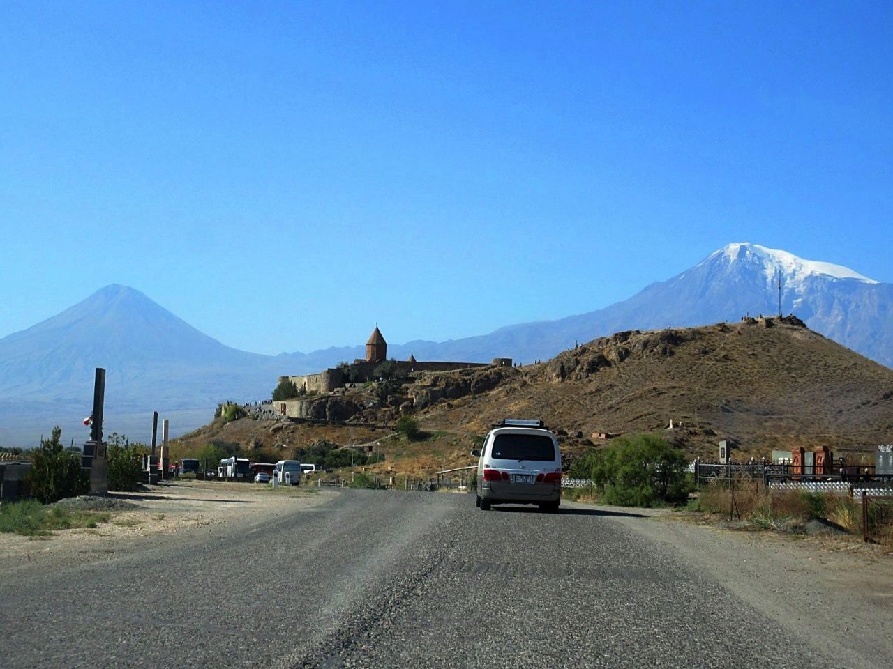
M 505 418 L 490 430 L 478 459 L 477 506 L 537 504 L 556 512 L 561 504 L 561 451 L 541 420 Z

